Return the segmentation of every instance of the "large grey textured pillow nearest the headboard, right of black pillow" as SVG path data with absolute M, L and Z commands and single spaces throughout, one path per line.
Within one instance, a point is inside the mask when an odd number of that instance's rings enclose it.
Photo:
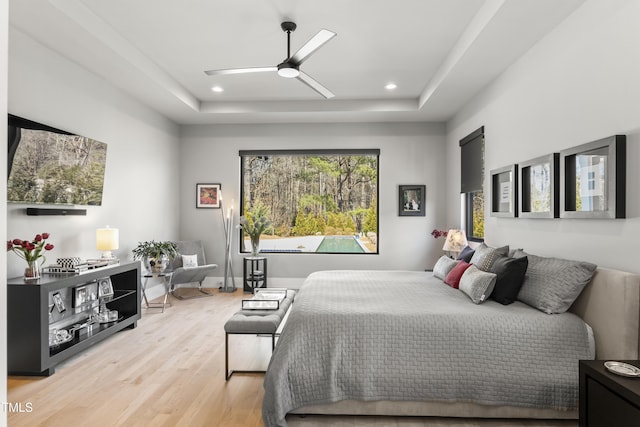
M 544 258 L 524 251 L 514 255 L 529 259 L 518 299 L 547 314 L 567 311 L 597 268 L 589 262 Z

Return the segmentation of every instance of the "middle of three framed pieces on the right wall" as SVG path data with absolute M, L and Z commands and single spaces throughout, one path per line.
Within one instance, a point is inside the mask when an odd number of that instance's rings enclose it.
M 520 163 L 521 218 L 560 216 L 559 165 L 559 153 Z

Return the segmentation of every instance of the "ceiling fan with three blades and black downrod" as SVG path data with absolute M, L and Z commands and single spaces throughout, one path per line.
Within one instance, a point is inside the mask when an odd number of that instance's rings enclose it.
M 336 36 L 336 33 L 329 30 L 320 30 L 304 44 L 296 53 L 291 55 L 291 32 L 295 31 L 296 24 L 294 22 L 283 22 L 280 24 L 282 31 L 287 33 L 287 58 L 274 67 L 251 67 L 251 68 L 229 68 L 225 70 L 207 70 L 205 74 L 209 76 L 220 76 L 224 74 L 244 74 L 244 73 L 262 73 L 276 71 L 278 75 L 286 78 L 297 78 L 311 89 L 318 92 L 325 98 L 333 98 L 335 95 L 326 87 L 322 86 L 308 74 L 300 71 L 300 65 L 306 61 L 311 54 L 320 49 L 325 43 Z

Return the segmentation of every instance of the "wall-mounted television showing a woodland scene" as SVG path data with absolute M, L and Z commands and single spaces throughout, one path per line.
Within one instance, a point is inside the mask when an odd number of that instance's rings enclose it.
M 107 144 L 9 114 L 7 200 L 101 205 Z

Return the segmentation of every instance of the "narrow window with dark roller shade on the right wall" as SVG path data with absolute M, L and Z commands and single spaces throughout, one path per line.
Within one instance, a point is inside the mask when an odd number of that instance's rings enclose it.
M 460 192 L 467 238 L 484 240 L 484 126 L 460 140 Z

